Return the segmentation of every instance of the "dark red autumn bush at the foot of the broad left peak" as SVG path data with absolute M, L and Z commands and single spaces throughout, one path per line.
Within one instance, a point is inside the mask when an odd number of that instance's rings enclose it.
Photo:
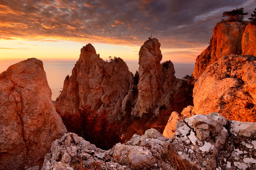
M 119 126 L 115 122 L 109 122 L 102 112 L 92 110 L 88 104 L 73 114 L 56 111 L 61 116 L 68 132 L 76 133 L 98 148 L 108 150 L 121 142 Z

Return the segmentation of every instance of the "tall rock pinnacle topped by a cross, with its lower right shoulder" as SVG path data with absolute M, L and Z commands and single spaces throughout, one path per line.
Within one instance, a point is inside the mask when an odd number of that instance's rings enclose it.
M 132 103 L 131 114 L 142 116 L 143 113 L 157 114 L 160 106 L 168 106 L 170 97 L 177 93 L 182 80 L 176 79 L 171 61 L 160 64 L 162 54 L 156 38 L 144 42 L 139 52 L 138 97 Z M 131 95 L 123 101 L 122 108 L 131 103 Z M 123 109 L 127 110 L 127 109 Z

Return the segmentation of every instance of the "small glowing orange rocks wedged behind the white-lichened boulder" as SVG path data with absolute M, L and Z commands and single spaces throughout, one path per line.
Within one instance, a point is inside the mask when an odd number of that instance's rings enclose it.
M 175 134 L 176 123 L 179 120 L 185 120 L 185 118 L 191 117 L 193 115 L 195 115 L 195 112 L 193 111 L 193 106 L 187 106 L 180 114 L 177 112 L 172 112 L 164 128 L 163 136 L 171 138 Z

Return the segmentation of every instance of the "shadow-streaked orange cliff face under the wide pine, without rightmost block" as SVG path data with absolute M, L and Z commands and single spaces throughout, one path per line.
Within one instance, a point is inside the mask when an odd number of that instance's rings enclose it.
M 243 53 L 242 37 L 248 23 L 249 21 L 219 22 L 216 24 L 213 29 L 210 45 L 196 58 L 193 73 L 196 80 L 209 65 L 220 57 L 231 54 L 241 55 Z M 247 55 L 254 54 L 248 53 Z

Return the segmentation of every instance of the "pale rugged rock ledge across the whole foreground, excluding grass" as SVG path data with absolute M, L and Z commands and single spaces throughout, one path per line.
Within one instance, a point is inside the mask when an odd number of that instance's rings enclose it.
M 107 151 L 68 133 L 52 143 L 42 170 L 72 170 L 74 157 L 84 164 L 98 162 L 101 169 L 172 170 L 175 168 L 170 164 L 156 160 L 170 147 L 202 170 L 255 169 L 256 123 L 227 121 L 219 113 L 199 114 L 179 120 L 172 138 L 151 128 L 143 136 L 135 134 L 127 143 L 117 143 Z

